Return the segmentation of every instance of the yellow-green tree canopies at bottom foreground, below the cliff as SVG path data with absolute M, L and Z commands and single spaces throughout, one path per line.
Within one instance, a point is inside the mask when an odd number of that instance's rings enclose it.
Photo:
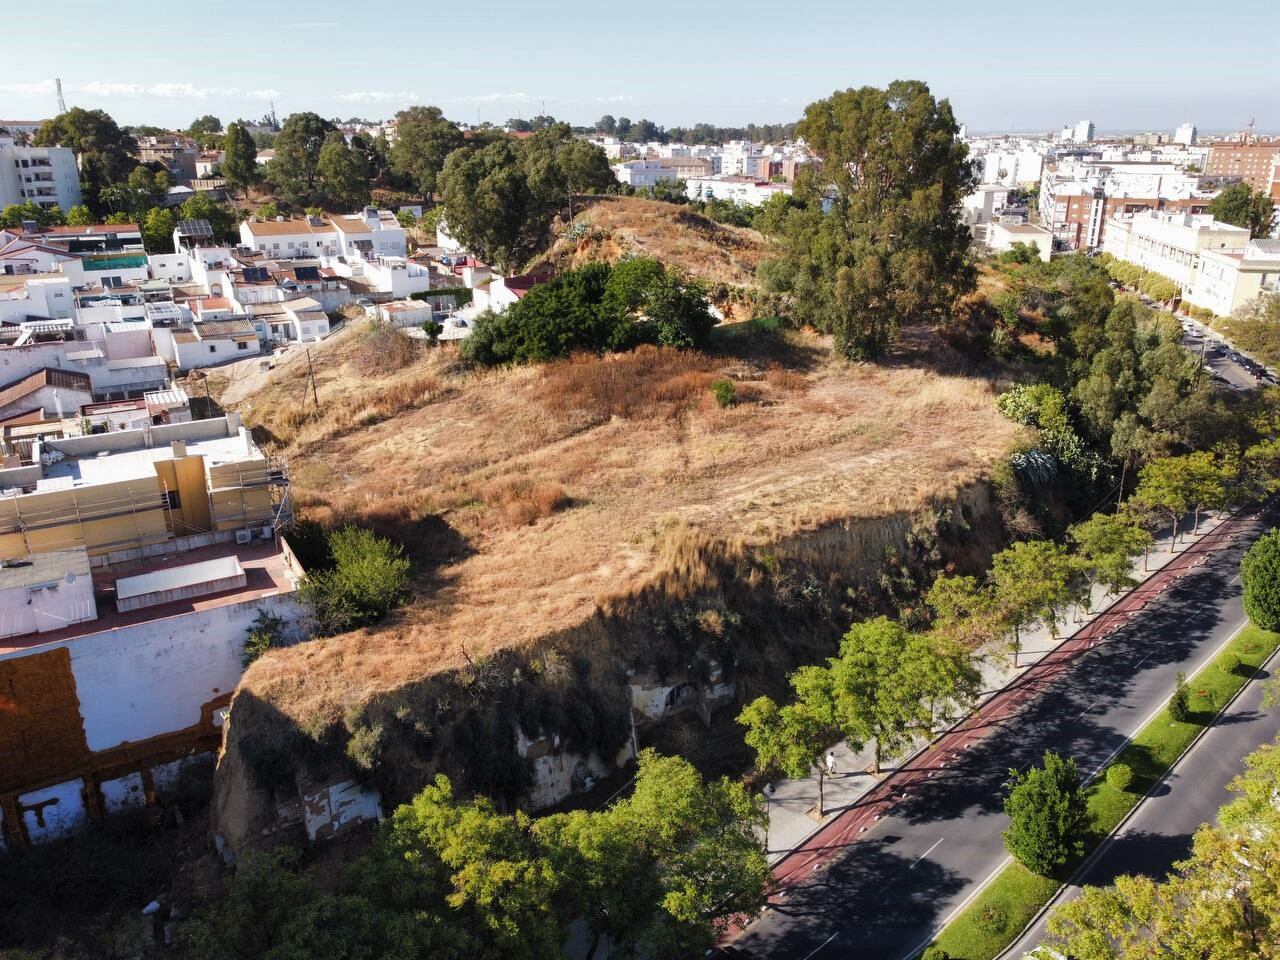
M 447 777 L 399 806 L 333 892 L 287 849 L 251 854 L 228 893 L 184 924 L 198 960 L 562 960 L 584 920 L 588 957 L 705 950 L 769 882 L 758 797 L 645 750 L 632 794 L 532 819 Z

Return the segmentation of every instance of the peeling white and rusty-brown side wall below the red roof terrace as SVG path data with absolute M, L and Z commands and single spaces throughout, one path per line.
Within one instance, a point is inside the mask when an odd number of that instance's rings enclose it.
M 214 745 L 260 611 L 302 614 L 279 594 L 0 654 L 0 844 L 172 791 Z

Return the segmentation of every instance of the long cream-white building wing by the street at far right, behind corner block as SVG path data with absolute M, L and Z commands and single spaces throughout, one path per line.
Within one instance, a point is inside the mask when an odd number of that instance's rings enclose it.
M 1102 250 L 1117 260 L 1167 276 L 1185 296 L 1194 289 L 1201 259 L 1207 252 L 1238 251 L 1248 242 L 1245 228 L 1220 223 L 1204 214 L 1148 210 L 1114 218 Z

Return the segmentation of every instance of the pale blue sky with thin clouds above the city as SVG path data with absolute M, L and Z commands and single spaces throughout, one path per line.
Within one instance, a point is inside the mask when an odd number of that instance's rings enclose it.
M 1280 3 L 952 0 L 61 0 L 5 45 L 0 119 L 101 108 L 120 124 L 214 114 L 454 120 L 544 110 L 666 127 L 797 119 L 835 90 L 923 79 L 973 132 L 1280 129 Z M 206 13 L 202 13 L 206 12 Z M 38 19 L 38 29 L 36 20 Z M 9 19 L 20 31 L 22 20 Z M 13 37 L 18 40 L 18 37 Z

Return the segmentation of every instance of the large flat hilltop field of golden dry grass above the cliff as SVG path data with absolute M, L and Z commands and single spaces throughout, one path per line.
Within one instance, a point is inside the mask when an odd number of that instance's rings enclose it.
M 657 582 L 695 584 L 707 544 L 829 553 L 861 520 L 954 497 L 1015 428 L 996 384 L 913 365 L 934 349 L 915 337 L 893 364 L 851 366 L 794 334 L 781 365 L 648 348 L 486 374 L 436 349 L 370 379 L 349 340 L 326 343 L 314 351 L 319 416 L 285 436 L 292 420 L 273 412 L 298 403 L 305 369 L 242 404 L 287 439 L 297 503 L 411 538 L 438 516 L 457 545 L 393 622 L 282 650 L 246 684 L 300 721 L 337 718 Z M 707 387 L 722 376 L 753 399 L 719 408 Z

